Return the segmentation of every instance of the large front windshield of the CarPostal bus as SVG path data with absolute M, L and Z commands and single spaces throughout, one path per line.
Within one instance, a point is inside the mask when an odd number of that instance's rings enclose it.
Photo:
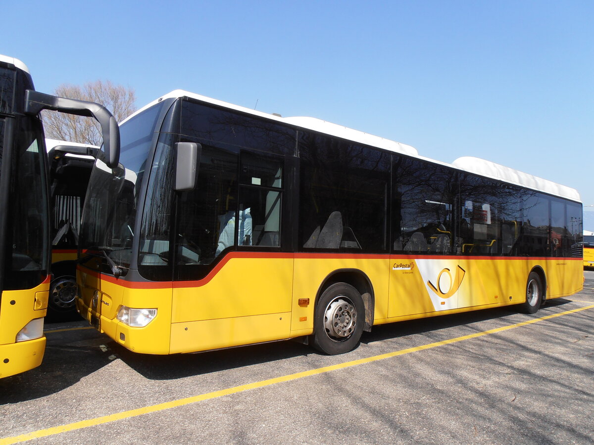
M 140 185 L 150 167 L 150 148 L 162 104 L 147 109 L 120 128 L 119 166 L 109 169 L 105 151 L 99 151 L 91 173 L 83 209 L 80 249 L 85 263 L 90 255 L 108 255 L 115 265 L 129 268 Z

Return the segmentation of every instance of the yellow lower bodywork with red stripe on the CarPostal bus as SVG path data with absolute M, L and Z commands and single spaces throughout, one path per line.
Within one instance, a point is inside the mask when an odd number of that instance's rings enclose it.
M 235 255 L 197 281 L 99 279 L 80 268 L 83 295 L 77 304 L 87 320 L 124 347 L 172 354 L 309 335 L 315 298 L 336 273 L 359 271 L 366 277 L 375 324 L 523 303 L 533 268 L 545 276 L 547 298 L 574 294 L 583 282 L 582 261 L 568 258 Z M 157 309 L 157 316 L 146 327 L 130 327 L 117 319 L 122 305 Z

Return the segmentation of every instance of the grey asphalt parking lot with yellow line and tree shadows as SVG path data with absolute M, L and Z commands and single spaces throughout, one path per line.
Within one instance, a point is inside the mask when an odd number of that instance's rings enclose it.
M 0 380 L 0 445 L 592 444 L 594 272 L 538 313 L 375 326 L 355 351 L 275 342 L 134 354 L 83 320 Z

